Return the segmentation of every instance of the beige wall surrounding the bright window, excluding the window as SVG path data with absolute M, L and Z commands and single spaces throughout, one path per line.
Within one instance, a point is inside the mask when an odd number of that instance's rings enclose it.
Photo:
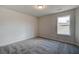
M 71 16 L 71 36 L 58 35 L 57 34 L 57 17 L 59 16 Z M 43 16 L 39 18 L 39 36 L 50 38 L 63 42 L 74 43 L 74 10 L 65 11 L 53 15 Z

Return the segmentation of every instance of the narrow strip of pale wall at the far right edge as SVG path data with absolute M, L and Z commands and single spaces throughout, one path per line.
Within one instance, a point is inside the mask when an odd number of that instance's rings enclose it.
M 76 20 L 75 38 L 76 38 L 76 43 L 79 44 L 79 8 L 75 10 L 75 20 Z

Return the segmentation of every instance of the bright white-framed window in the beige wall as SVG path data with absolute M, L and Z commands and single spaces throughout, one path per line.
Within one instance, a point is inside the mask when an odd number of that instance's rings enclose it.
M 57 34 L 70 35 L 70 15 L 57 18 Z

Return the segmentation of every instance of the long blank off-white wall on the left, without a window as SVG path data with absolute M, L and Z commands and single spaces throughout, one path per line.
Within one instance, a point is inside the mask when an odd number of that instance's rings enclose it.
M 0 8 L 0 46 L 37 35 L 37 18 Z

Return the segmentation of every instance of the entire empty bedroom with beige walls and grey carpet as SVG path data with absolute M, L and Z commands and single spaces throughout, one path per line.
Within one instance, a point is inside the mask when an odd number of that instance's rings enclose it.
M 79 54 L 79 5 L 0 5 L 0 54 Z

